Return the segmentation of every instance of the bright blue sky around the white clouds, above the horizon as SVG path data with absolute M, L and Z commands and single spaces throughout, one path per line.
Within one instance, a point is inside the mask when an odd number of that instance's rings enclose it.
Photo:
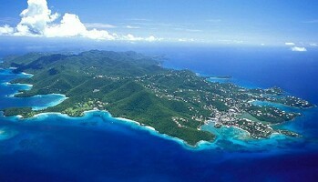
M 89 32 L 96 28 L 107 31 L 108 35 L 103 36 L 107 40 L 230 45 L 293 43 L 301 47 L 318 44 L 316 0 L 47 0 L 47 5 L 52 14 L 59 15 L 50 23 L 52 26 L 59 24 L 66 13 L 77 15 L 87 33 L 74 35 L 85 37 L 99 37 L 95 34 L 98 32 Z M 15 28 L 27 6 L 26 0 L 2 0 L 0 26 Z M 69 21 L 72 18 L 75 17 L 69 16 Z M 43 34 L 55 37 L 58 30 L 56 27 L 51 30 L 54 33 Z M 12 34 L 18 34 L 13 31 Z

